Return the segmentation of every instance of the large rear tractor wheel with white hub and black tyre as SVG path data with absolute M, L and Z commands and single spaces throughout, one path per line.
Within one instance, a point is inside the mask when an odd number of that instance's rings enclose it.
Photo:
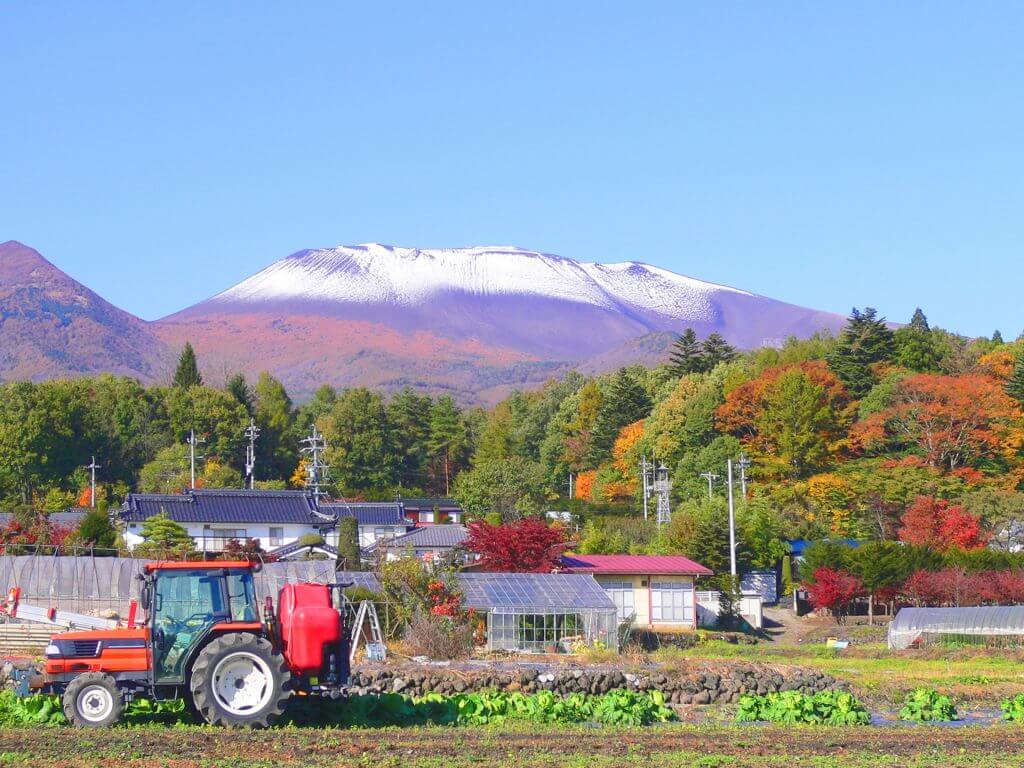
M 212 640 L 193 665 L 193 705 L 211 725 L 266 728 L 292 695 L 292 673 L 269 641 L 232 632 Z

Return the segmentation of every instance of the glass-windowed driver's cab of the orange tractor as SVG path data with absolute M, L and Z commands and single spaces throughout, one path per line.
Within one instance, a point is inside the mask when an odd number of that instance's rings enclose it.
M 222 622 L 256 621 L 249 571 L 166 570 L 154 596 L 154 663 L 158 681 L 180 680 L 197 642 Z

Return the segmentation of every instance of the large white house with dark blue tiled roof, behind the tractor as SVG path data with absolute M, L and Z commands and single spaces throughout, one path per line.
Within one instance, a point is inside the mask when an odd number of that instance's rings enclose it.
M 303 537 L 310 535 L 323 538 L 314 550 L 334 556 L 337 522 L 345 516 L 358 521 L 360 546 L 412 527 L 396 503 L 317 503 L 304 490 L 193 488 L 183 494 L 129 494 L 118 511 L 129 549 L 142 542 L 145 520 L 161 513 L 182 525 L 201 552 L 221 552 L 232 539 L 257 539 L 267 553 L 279 557 L 310 551 L 310 545 L 303 543 Z

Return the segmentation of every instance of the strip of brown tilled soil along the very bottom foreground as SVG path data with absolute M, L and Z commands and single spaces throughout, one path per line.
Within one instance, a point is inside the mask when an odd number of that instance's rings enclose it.
M 819 766 L 884 768 L 1024 765 L 1024 728 L 720 727 L 283 728 L 0 730 L 0 765 L 125 768 L 270 766 Z

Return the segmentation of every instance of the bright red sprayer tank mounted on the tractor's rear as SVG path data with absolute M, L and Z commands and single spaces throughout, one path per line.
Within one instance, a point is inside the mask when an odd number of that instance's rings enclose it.
M 331 591 L 323 584 L 288 584 L 278 600 L 278 623 L 285 658 L 293 672 L 318 675 L 324 670 L 325 645 L 337 646 L 341 622 L 331 605 Z

